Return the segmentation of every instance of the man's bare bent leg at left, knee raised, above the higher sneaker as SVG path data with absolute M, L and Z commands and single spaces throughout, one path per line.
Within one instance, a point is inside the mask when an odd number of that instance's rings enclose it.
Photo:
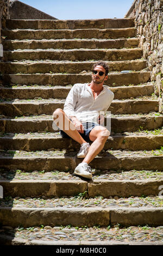
M 68 118 L 66 113 L 61 108 L 58 108 L 54 111 L 53 120 L 55 121 L 55 124 L 68 136 L 74 139 L 74 141 L 78 142 L 80 145 L 86 143 L 80 133 L 76 130 L 76 127 L 74 126 L 72 121 Z

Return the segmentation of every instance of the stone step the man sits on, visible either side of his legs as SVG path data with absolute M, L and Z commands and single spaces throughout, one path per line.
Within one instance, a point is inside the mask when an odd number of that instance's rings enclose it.
M 163 130 L 112 134 L 105 142 L 104 150 L 155 150 L 163 145 Z M 139 143 L 137 143 L 139 141 Z M 72 139 L 62 138 L 58 133 L 0 133 L 1 150 L 79 150 Z

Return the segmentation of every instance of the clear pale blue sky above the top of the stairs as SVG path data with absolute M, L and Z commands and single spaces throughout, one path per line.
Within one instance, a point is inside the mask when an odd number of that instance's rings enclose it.
M 22 0 L 21 2 L 60 20 L 80 20 L 124 18 L 134 0 Z

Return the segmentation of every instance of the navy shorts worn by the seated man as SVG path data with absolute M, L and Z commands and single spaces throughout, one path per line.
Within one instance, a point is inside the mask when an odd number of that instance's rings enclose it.
M 84 133 L 80 133 L 80 135 L 82 136 L 82 138 L 84 139 L 84 141 L 86 142 L 91 142 L 90 140 L 90 132 L 92 131 L 92 129 L 95 126 L 99 126 L 99 124 L 97 123 L 90 123 L 90 122 L 86 122 L 86 123 L 82 123 L 83 127 L 84 127 Z M 64 138 L 70 138 L 70 136 L 67 135 L 67 133 L 65 133 L 64 131 L 60 130 L 60 135 Z

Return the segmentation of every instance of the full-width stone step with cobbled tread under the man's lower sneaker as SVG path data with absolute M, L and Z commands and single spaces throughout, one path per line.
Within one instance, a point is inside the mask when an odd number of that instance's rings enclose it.
M 136 203 L 138 207 L 143 204 L 151 204 L 152 200 L 148 200 L 146 196 L 158 196 L 160 192 L 161 182 L 163 180 L 163 172 L 153 172 L 149 170 L 130 170 L 126 172 L 100 172 L 93 170 L 93 180 L 82 180 L 81 177 L 71 175 L 65 172 L 22 172 L 21 170 L 9 170 L 0 172 L 0 185 L 3 186 L 3 198 L 5 197 L 19 197 L 15 198 L 16 203 L 21 203 L 22 198 L 26 197 L 42 197 L 47 199 L 53 197 L 52 203 L 57 203 L 62 198 L 62 203 L 70 202 L 68 198 L 71 197 L 73 205 L 80 204 L 84 206 L 91 203 L 87 198 L 95 198 L 93 204 L 108 205 L 108 203 L 122 204 L 127 203 L 128 206 L 134 206 Z M 100 195 L 100 196 L 99 196 Z M 131 196 L 132 195 L 132 196 Z M 143 197 L 142 197 L 143 195 Z M 72 198 L 74 196 L 74 198 Z M 97 196 L 100 197 L 96 198 Z M 67 198 L 68 197 L 68 198 Z M 125 198 L 122 200 L 122 198 Z M 140 198 L 134 198 L 140 197 Z M 104 200 L 109 198 L 110 200 Z M 126 199 L 128 198 L 128 199 Z M 19 202 L 17 202 L 17 200 Z M 77 200 L 78 199 L 78 200 Z M 83 200 L 84 199 L 84 200 Z M 13 200 L 13 201 L 14 201 Z M 80 200 L 80 202 L 79 202 Z M 155 206 L 160 206 L 161 198 L 153 198 Z M 33 199 L 31 199 L 33 203 Z M 24 200 L 24 202 L 26 202 Z M 22 202 L 22 203 L 24 203 Z M 30 203 L 30 199 L 29 199 Z M 48 202 L 47 202 L 48 203 Z M 2 200 L 1 200 L 1 204 Z M 58 204 L 59 205 L 59 204 Z

